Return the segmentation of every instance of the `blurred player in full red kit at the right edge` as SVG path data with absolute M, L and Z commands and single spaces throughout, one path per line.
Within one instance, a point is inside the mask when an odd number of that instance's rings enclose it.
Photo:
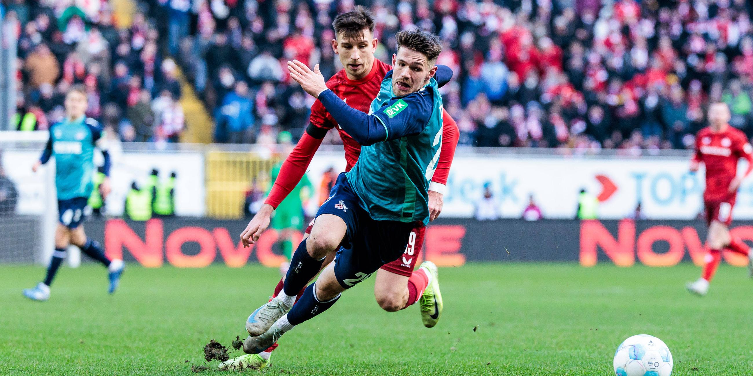
M 687 284 L 691 293 L 703 296 L 709 290 L 709 282 L 721 262 L 721 251 L 740 253 L 748 256 L 748 273 L 751 274 L 750 254 L 747 244 L 730 236 L 732 208 L 735 206 L 737 189 L 745 177 L 753 171 L 753 147 L 739 129 L 729 125 L 730 108 L 722 102 L 709 106 L 709 126 L 701 129 L 696 136 L 696 152 L 691 160 L 691 171 L 698 171 L 701 162 L 706 165 L 706 191 L 703 193 L 703 206 L 709 235 L 706 247 L 709 254 L 704 260 L 701 277 Z M 745 173 L 737 175 L 737 162 L 740 158 L 748 161 Z M 751 274 L 753 276 L 753 274 Z

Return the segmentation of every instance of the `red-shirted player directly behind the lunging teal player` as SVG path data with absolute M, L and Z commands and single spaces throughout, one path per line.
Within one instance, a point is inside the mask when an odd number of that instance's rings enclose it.
M 333 22 L 333 26 L 337 39 L 332 41 L 332 48 L 344 68 L 327 81 L 327 86 L 352 108 L 368 113 L 371 102 L 380 91 L 383 78 L 387 72 L 392 70 L 391 65 L 374 57 L 377 38 L 373 38 L 373 15 L 367 8 L 358 6 L 355 11 L 338 15 Z M 453 161 L 459 135 L 458 126 L 444 110 L 443 119 L 441 152 L 428 191 L 431 220 L 434 220 L 442 210 L 445 185 L 450 174 L 450 165 Z M 294 150 L 282 163 L 282 168 L 280 168 L 270 195 L 242 233 L 241 238 L 244 244 L 254 244 L 262 232 L 267 229 L 274 209 L 303 177 L 314 153 L 316 153 L 319 145 L 322 144 L 322 139 L 330 129 L 336 128 L 343 140 L 347 162 L 346 171 L 349 171 L 358 160 L 361 145 L 337 126 L 337 122 L 325 110 L 319 100 L 316 100 L 312 106 L 309 120 L 310 124 L 306 132 L 303 132 L 303 136 Z M 306 229 L 306 236 L 309 235 L 310 231 L 311 226 L 309 225 L 309 228 Z M 377 271 L 374 296 L 380 307 L 385 311 L 400 311 L 413 305 L 422 298 L 422 295 L 425 295 L 425 290 L 431 290 L 432 285 L 436 286 L 437 291 L 434 293 L 439 293 L 437 281 L 432 280 L 432 278 L 435 278 L 432 274 L 436 271 L 432 262 L 425 262 L 425 265 L 413 271 L 415 261 L 419 258 L 423 246 L 424 233 L 425 226 L 422 223 L 416 225 L 416 228 L 410 234 L 404 255 Z M 322 264 L 322 268 L 328 265 L 334 259 L 334 256 L 334 252 L 330 253 Z M 280 280 L 274 291 L 274 297 L 279 296 L 282 286 L 283 280 Z M 427 289 L 427 287 L 429 288 Z M 298 297 L 302 293 L 303 290 L 298 293 Z M 437 320 L 439 320 L 441 299 L 437 300 L 440 304 L 438 308 L 433 304 L 431 307 L 421 305 L 422 320 L 427 327 L 436 325 Z M 233 368 L 242 364 L 244 368 L 264 368 L 269 363 L 271 351 L 276 347 L 277 344 L 274 344 L 263 353 L 247 354 L 230 359 L 224 362 L 221 367 Z

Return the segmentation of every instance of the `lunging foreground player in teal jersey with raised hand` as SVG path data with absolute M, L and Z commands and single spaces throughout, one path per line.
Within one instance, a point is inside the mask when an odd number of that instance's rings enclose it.
M 452 71 L 434 65 L 442 48 L 435 35 L 415 30 L 399 32 L 396 39 L 392 74 L 383 80 L 370 114 L 349 107 L 328 89 L 318 65 L 311 71 L 297 60 L 288 62 L 291 77 L 363 147 L 358 162 L 340 174 L 319 208 L 311 235 L 291 259 L 282 292 L 248 317 L 246 353 L 264 351 L 294 326 L 326 311 L 340 293 L 398 259 L 416 222 L 428 223 L 428 185 L 442 144 L 437 88 Z M 242 234 L 244 244 L 251 236 Z M 334 262 L 293 305 L 325 256 L 338 248 Z M 435 302 L 438 313 L 441 297 Z

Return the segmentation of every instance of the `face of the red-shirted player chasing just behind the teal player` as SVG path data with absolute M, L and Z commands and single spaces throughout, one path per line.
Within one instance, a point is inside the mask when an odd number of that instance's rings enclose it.
M 369 29 L 363 29 L 360 36 L 352 38 L 345 38 L 341 32 L 332 40 L 332 50 L 340 58 L 348 78 L 359 80 L 371 71 L 377 38 L 373 38 Z

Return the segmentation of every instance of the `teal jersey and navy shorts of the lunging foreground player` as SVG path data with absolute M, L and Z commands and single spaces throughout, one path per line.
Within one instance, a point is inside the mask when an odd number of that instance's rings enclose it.
M 447 71 L 437 71 L 437 78 L 449 80 L 452 73 Z M 340 174 L 316 214 L 333 214 L 346 223 L 334 266 L 343 288 L 398 259 L 416 223 L 428 223 L 428 185 L 439 159 L 443 123 L 438 86 L 431 78 L 419 92 L 395 97 L 390 71 L 369 115 L 349 108 L 331 90 L 319 95 L 337 123 L 363 145 L 358 162 Z

